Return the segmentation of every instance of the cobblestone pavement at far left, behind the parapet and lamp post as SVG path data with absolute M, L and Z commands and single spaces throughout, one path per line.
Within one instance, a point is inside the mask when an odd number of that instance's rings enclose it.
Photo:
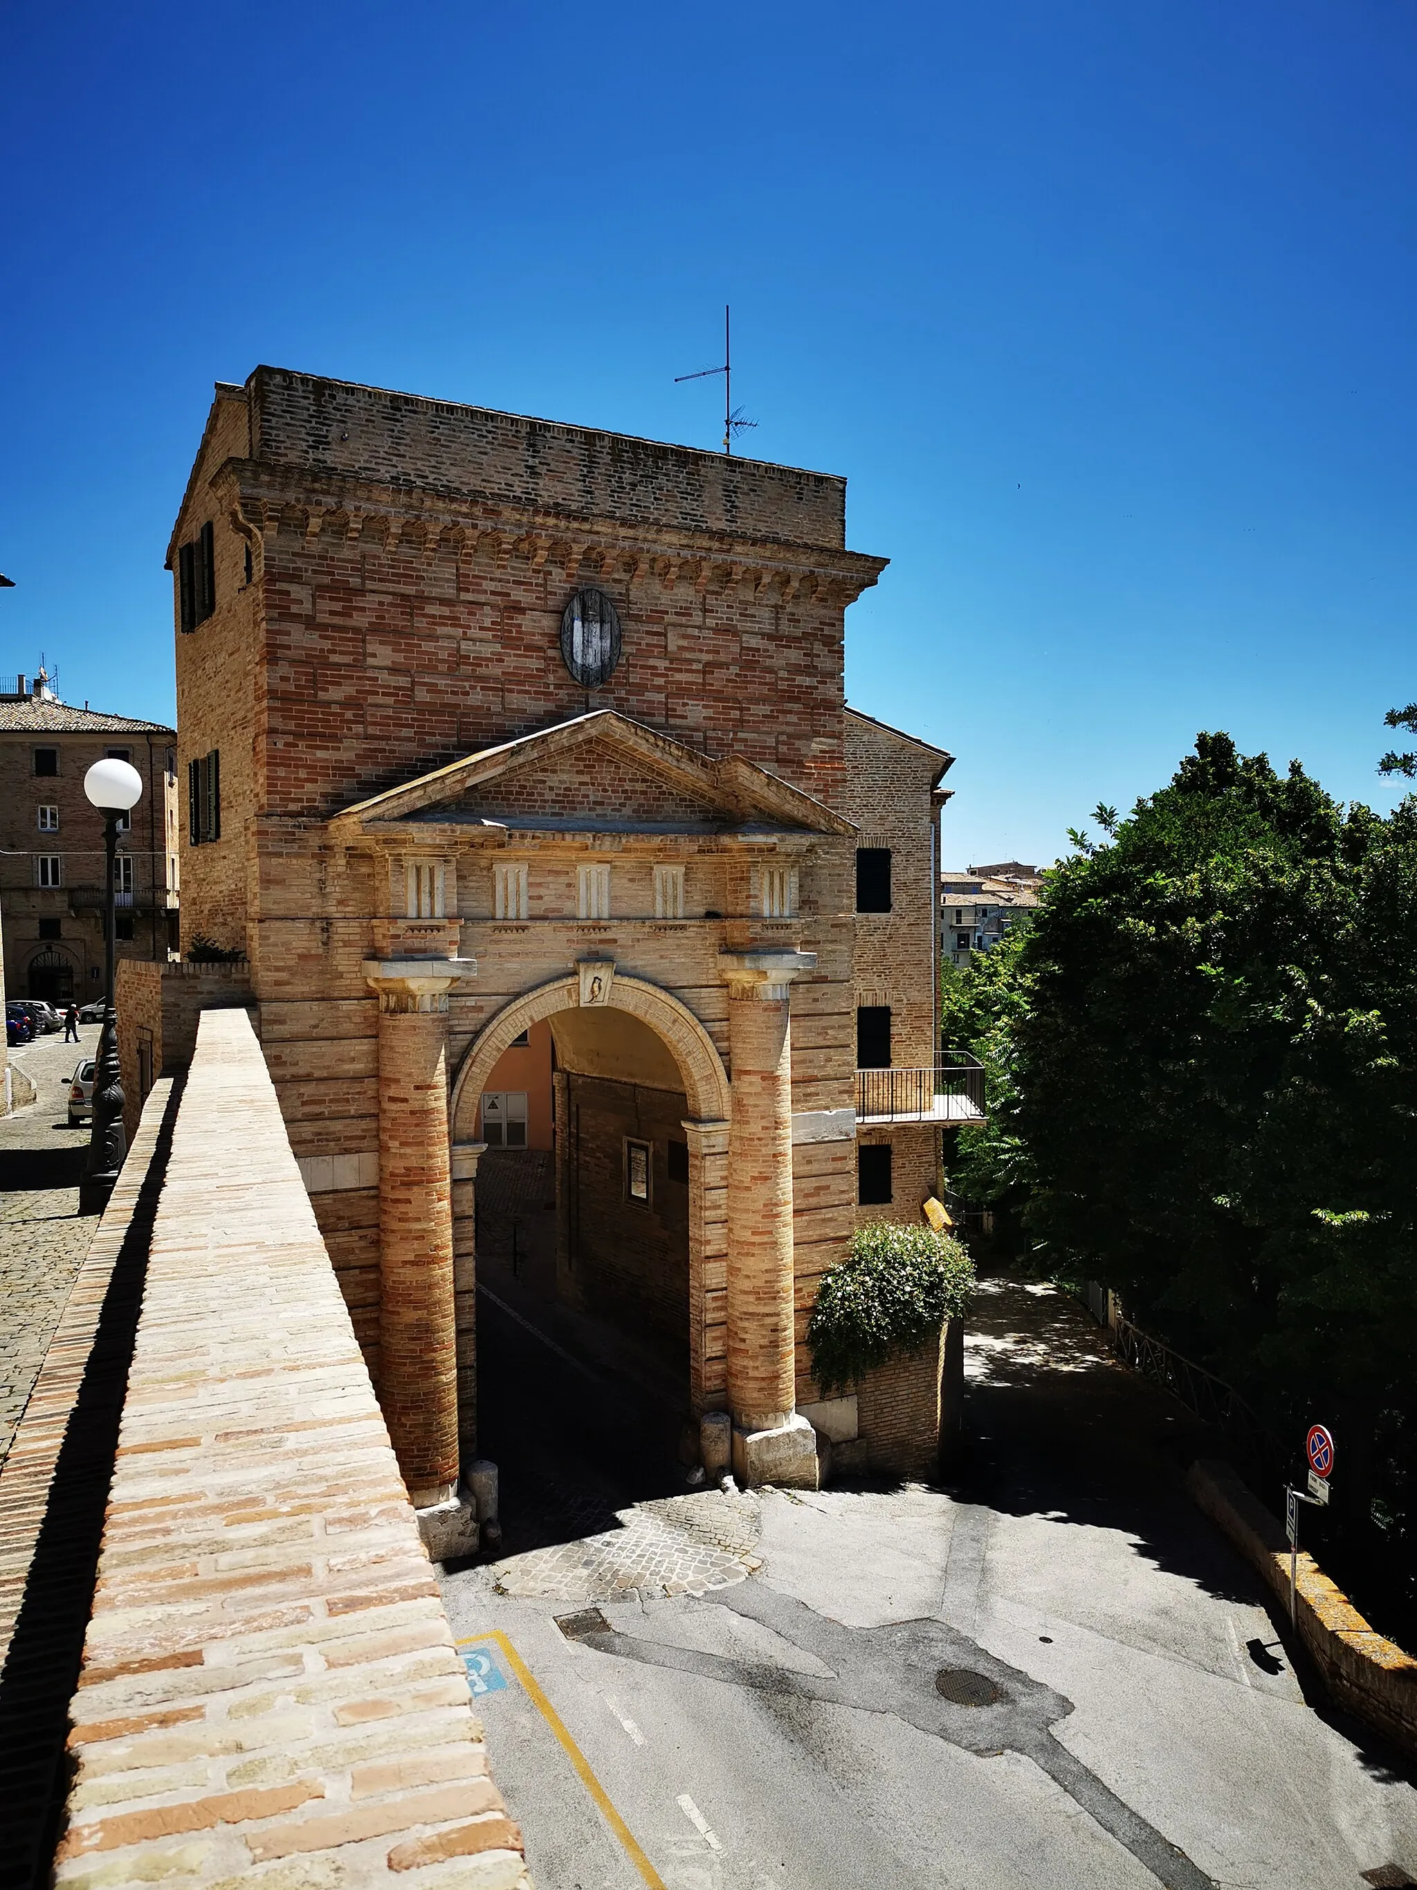
M 0 1463 L 98 1225 L 77 1211 L 89 1128 L 68 1126 L 60 1087 L 96 1043 L 98 1024 L 85 1024 L 77 1045 L 53 1034 L 9 1053 L 38 1100 L 0 1117 Z

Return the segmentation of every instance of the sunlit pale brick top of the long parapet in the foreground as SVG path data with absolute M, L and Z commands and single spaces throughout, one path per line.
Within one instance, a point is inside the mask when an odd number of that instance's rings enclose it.
M 244 1011 L 178 1113 L 72 1720 L 60 1886 L 523 1882 Z

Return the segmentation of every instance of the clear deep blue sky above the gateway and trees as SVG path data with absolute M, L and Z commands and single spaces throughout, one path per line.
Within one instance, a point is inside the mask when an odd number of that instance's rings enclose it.
M 845 472 L 848 696 L 1047 860 L 1200 728 L 1391 805 L 1417 697 L 1417 9 L 8 9 L 0 671 L 172 713 L 259 361 Z

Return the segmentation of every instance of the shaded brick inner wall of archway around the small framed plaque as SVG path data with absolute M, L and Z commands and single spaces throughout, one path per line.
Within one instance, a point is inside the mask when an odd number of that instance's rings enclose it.
M 690 1334 L 690 1191 L 669 1179 L 688 1098 L 571 1075 L 572 1281 L 591 1312 L 682 1353 Z M 625 1193 L 625 1138 L 652 1143 L 650 1202 Z

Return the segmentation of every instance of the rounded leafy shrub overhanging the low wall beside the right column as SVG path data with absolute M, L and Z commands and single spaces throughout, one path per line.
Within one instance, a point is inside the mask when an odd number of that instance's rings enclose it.
M 852 1234 L 850 1257 L 822 1278 L 807 1325 L 812 1376 L 826 1397 L 935 1338 L 969 1304 L 975 1263 L 931 1227 L 871 1221 Z

